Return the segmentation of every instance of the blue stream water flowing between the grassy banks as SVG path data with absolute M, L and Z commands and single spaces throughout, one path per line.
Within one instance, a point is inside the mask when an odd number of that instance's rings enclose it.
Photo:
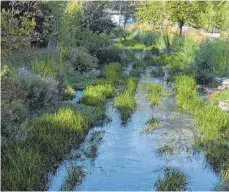
M 63 189 L 72 166 L 81 167 L 85 173 L 73 190 L 154 190 L 155 181 L 166 167 L 182 170 L 188 176 L 189 190 L 214 188 L 219 178 L 204 155 L 193 149 L 192 117 L 179 112 L 172 86 L 150 74 L 150 70 L 146 70 L 139 80 L 137 109 L 130 121 L 123 125 L 112 100 L 109 101 L 106 114 L 111 121 L 94 127 L 80 148 L 73 150 L 71 158 L 50 174 L 49 190 Z M 170 92 L 153 108 L 146 98 L 146 87 L 151 82 L 161 83 Z M 160 124 L 152 133 L 146 133 L 144 128 L 152 117 L 160 119 Z M 95 139 L 91 139 L 92 136 Z M 88 157 L 87 151 L 94 144 L 98 145 L 96 156 Z

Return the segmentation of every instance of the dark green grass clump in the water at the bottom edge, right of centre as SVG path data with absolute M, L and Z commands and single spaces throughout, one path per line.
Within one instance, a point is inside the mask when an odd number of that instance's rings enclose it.
M 185 191 L 187 184 L 184 173 L 175 168 L 166 168 L 164 177 L 159 177 L 154 185 L 157 191 Z

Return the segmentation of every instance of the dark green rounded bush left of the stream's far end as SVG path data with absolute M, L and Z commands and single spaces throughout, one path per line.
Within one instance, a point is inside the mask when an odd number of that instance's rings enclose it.
M 121 61 L 121 49 L 115 46 L 100 48 L 97 52 L 99 63 L 112 63 Z

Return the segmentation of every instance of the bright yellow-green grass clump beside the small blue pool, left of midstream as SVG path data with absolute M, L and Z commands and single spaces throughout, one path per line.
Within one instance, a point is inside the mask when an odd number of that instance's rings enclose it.
M 114 94 L 114 88 L 110 84 L 87 86 L 83 91 L 82 102 L 86 105 L 99 106 L 107 97 Z

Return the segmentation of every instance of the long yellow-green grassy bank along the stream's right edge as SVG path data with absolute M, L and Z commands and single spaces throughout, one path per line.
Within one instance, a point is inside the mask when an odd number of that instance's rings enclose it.
M 191 77 L 178 76 L 175 88 L 177 104 L 195 117 L 196 129 L 200 134 L 198 147 L 203 149 L 216 173 L 229 182 L 229 114 L 216 105 L 204 105 L 198 98 L 197 85 Z

